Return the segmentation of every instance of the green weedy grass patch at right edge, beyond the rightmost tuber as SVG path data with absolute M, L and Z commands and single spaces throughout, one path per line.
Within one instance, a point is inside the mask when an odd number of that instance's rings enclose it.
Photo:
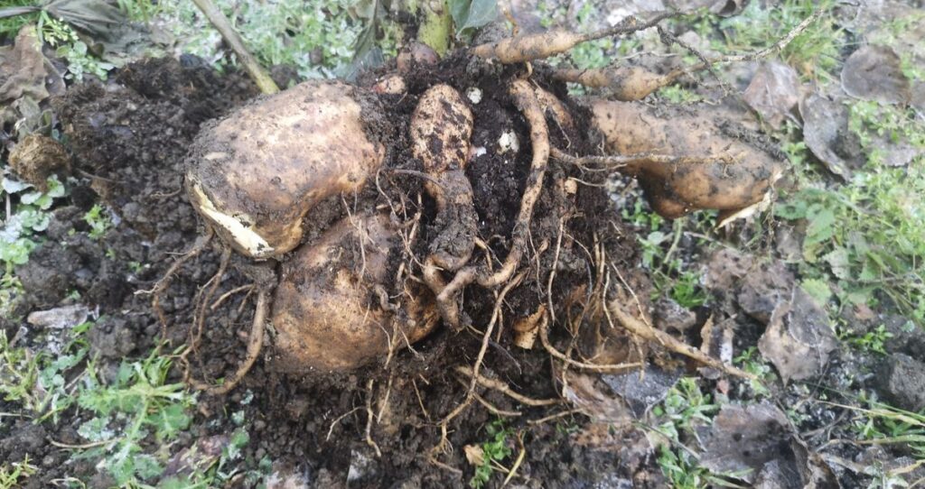
M 852 128 L 868 151 L 867 165 L 845 185 L 823 187 L 808 164 L 802 142 L 784 150 L 796 167 L 801 189 L 776 205 L 774 214 L 805 228 L 803 261 L 797 263 L 804 285 L 825 299 L 829 287 L 838 308 L 884 303 L 925 324 L 925 156 L 907 166 L 882 163 L 875 138 L 925 149 L 922 124 L 890 106 L 851 103 Z

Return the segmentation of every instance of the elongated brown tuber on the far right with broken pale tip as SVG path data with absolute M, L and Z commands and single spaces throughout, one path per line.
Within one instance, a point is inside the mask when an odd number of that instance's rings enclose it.
M 608 153 L 684 157 L 642 157 L 620 168 L 638 177 L 652 208 L 666 217 L 697 209 L 739 211 L 762 202 L 783 173 L 781 160 L 722 134 L 706 116 L 656 116 L 646 105 L 607 101 L 594 102 L 592 110 Z

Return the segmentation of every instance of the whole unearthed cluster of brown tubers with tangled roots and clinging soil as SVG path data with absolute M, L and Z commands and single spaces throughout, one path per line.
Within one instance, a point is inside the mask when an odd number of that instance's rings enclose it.
M 614 317 L 642 321 L 627 325 L 620 341 L 632 353 L 623 361 L 644 360 L 645 348 L 626 335 L 661 336 L 646 329 L 638 299 L 646 294 L 632 293 L 612 264 L 629 255 L 608 208 L 607 176 L 636 177 L 667 217 L 699 209 L 729 216 L 766 202 L 783 164 L 716 122 L 728 118 L 722 111 L 703 116 L 561 95 L 561 80 L 569 80 L 638 100 L 675 73 L 503 65 L 668 16 L 587 35 L 501 40 L 442 61 L 413 46 L 397 69 L 358 86 L 305 82 L 207 125 L 191 149 L 187 193 L 225 244 L 276 269 L 275 290 L 259 296 L 264 306 L 267 297 L 272 302 L 270 364 L 326 373 L 388 363 L 442 322 L 485 332 L 471 370 L 475 385 L 490 336 L 504 324 L 517 345 L 531 348 L 539 335 L 550 354 L 569 362 L 546 328 L 593 323 L 593 331 L 612 332 Z M 635 300 L 624 304 L 627 313 L 606 305 L 618 290 Z M 505 304 L 509 297 L 515 305 Z

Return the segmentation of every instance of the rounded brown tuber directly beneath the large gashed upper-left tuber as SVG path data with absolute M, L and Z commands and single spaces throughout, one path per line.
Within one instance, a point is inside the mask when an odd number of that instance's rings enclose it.
M 400 247 L 387 214 L 354 215 L 283 263 L 270 319 L 274 368 L 351 370 L 426 336 L 439 319 L 426 296 L 409 294 L 413 299 L 391 312 L 376 295 L 388 279 L 388 257 Z

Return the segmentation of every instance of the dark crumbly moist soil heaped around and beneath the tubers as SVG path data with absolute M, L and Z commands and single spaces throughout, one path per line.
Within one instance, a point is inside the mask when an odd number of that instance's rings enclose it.
M 381 97 L 388 116 L 367 121 L 370 130 L 391 139 L 388 167 L 420 170 L 407 141 L 407 124 L 418 97 L 438 82 L 449 83 L 463 93 L 472 87 L 482 91 L 481 103 L 471 107 L 475 114 L 473 145 L 487 151 L 471 161 L 467 175 L 475 190 L 479 236 L 500 260 L 508 251 L 530 165 L 529 132 L 507 92 L 508 81 L 518 75 L 522 73 L 510 67 L 492 67 L 463 55 L 450 56 L 436 67 L 413 67 L 406 75 L 408 93 Z M 368 74 L 365 79 L 373 77 L 375 74 Z M 567 100 L 564 87 L 550 86 L 539 72 L 534 79 Z M 203 122 L 228 113 L 255 95 L 252 83 L 240 74 L 219 76 L 195 58 L 184 57 L 182 62 L 153 59 L 129 65 L 106 84 L 77 85 L 56 100 L 56 113 L 80 184 L 72 190 L 69 205 L 56 210 L 48 240 L 28 264 L 16 270 L 27 291 L 20 312 L 55 307 L 76 290 L 81 302 L 98 306 L 105 316 L 91 333 L 94 352 L 104 365 L 111 369 L 124 356 L 139 357 L 150 351 L 160 337 L 160 326 L 150 296 L 139 292 L 154 287 L 179 253 L 190 250 L 203 234 L 201 221 L 181 191 L 187 149 Z M 587 128 L 586 110 L 577 105 L 572 109 L 576 127 Z M 516 134 L 520 152 L 500 155 L 494 151 L 505 131 Z M 550 136 L 560 147 L 567 139 L 576 153 L 592 153 L 589 150 L 594 147 L 588 134 L 565 135 L 554 124 L 550 124 Z M 483 366 L 483 372 L 535 398 L 557 397 L 549 355 L 542 348 L 526 351 L 512 347 L 511 323 L 535 312 L 546 301 L 546 283 L 553 266 L 549 250 L 556 246 L 561 217 L 570 217 L 566 232 L 582 243 L 593 242 L 597 234 L 624 270 L 632 270 L 637 262 L 633 236 L 619 222 L 602 187 L 579 185 L 573 199 L 577 203 L 553 191 L 549 182 L 565 173 L 550 161 L 547 184 L 531 226 L 531 249 L 524 257 L 524 261 L 537 264 L 531 265 L 535 270 L 508 296 L 504 313 L 509 320 L 491 341 Z M 424 194 L 420 179 L 408 174 L 387 175 L 380 186 L 395 202 L 401 201 L 401 195 L 413 202 L 417 193 Z M 97 194 L 117 225 L 101 240 L 69 233 L 71 228 L 86 230 L 81 217 Z M 425 255 L 431 238 L 428 233 L 432 234 L 427 223 L 434 218 L 433 202 L 424 199 L 424 232 L 415 249 L 419 256 Z M 370 185 L 356 196 L 356 202 L 374 206 L 385 202 L 385 197 Z M 343 214 L 339 198 L 322 202 L 306 217 L 315 224 L 305 226 L 309 229 L 305 240 L 316 238 Z M 536 251 L 543 243 L 548 251 L 537 258 Z M 166 291 L 163 307 L 169 323 L 166 339 L 171 345 L 187 340 L 194 299 L 216 274 L 219 255 L 220 249 L 214 246 L 185 264 Z M 136 263 L 143 263 L 142 268 Z M 232 255 L 215 297 L 250 283 L 245 276 L 249 265 Z M 563 249 L 553 300 L 560 303 L 575 286 L 584 284 L 590 268 L 584 251 Z M 470 287 L 463 297 L 465 314 L 481 329 L 487 324 L 494 295 Z M 243 294 L 237 295 L 210 313 L 198 348 L 201 355 L 191 356 L 195 377 L 212 382 L 233 372 L 243 359 L 253 302 L 240 307 L 242 300 Z M 256 461 L 269 457 L 277 467 L 302 474 L 312 486 L 343 486 L 349 478 L 355 487 L 462 487 L 472 475 L 462 447 L 486 441 L 484 426 L 496 419 L 495 415 L 474 404 L 450 424 L 454 450 L 440 460 L 462 473 L 430 463 L 427 454 L 438 442 L 438 421 L 462 401 L 465 393 L 466 387 L 451 367 L 471 365 L 480 341 L 480 335 L 470 330 L 457 333 L 438 327 L 414 345 L 416 353 L 401 351 L 388 368 L 380 361 L 353 373 L 320 378 L 276 373 L 258 361 L 227 397 L 200 397 L 196 422 L 176 450 L 206 436 L 230 433 L 237 427 L 230 420 L 231 413 L 243 410 L 244 427 L 251 436 L 245 458 Z M 179 375 L 175 372 L 173 378 L 179 379 Z M 369 379 L 376 385 L 372 393 L 366 390 Z M 526 420 L 567 409 L 524 408 L 495 391 L 480 392 L 501 410 L 524 413 L 506 420 L 514 429 L 526 427 Z M 362 408 L 368 396 L 373 396 L 378 411 L 371 436 L 382 452 L 381 458 L 364 441 L 367 416 Z M 3 407 L 0 401 L 0 410 Z M 91 487 L 105 486 L 105 477 L 92 465 L 65 464 L 70 454 L 49 445 L 51 438 L 82 443 L 76 434 L 82 421 L 71 412 L 56 426 L 23 421 L 0 428 L 0 459 L 17 460 L 30 453 L 42 467 L 40 475 L 28 480 L 31 487 L 46 487 L 52 479 L 65 475 L 89 481 Z M 591 487 L 621 479 L 635 480 L 640 486 L 662 485 L 654 456 L 623 454 L 620 443 L 587 444 L 570 428 L 584 422 L 586 418 L 578 415 L 531 426 L 524 439 L 528 449 L 519 473 L 537 487 Z

